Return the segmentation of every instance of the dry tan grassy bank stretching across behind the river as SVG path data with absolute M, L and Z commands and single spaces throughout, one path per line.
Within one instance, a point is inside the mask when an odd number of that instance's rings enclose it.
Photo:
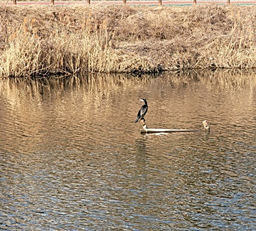
M 256 7 L 0 7 L 0 76 L 255 68 Z

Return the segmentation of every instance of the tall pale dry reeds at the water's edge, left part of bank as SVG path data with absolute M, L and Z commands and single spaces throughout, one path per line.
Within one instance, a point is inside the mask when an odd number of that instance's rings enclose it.
M 115 34 L 108 20 L 101 24 L 89 17 L 80 31 L 53 30 L 47 38 L 39 36 L 35 20 L 28 21 L 10 34 L 1 53 L 0 76 L 31 77 L 46 74 L 88 74 L 95 72 L 151 71 L 144 58 L 128 58 L 115 49 Z M 149 65 L 148 65 L 149 63 Z

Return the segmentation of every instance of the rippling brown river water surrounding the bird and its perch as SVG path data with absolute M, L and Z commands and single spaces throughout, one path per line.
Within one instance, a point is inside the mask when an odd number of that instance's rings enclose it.
M 243 71 L 1 79 L 0 230 L 255 230 L 255 111 Z

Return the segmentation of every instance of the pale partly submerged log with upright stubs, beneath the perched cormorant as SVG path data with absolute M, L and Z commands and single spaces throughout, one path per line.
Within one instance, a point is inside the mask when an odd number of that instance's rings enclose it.
M 200 132 L 202 130 L 192 130 L 192 129 L 167 129 L 167 128 L 148 128 L 146 125 L 146 121 L 140 120 L 140 124 L 142 128 L 140 129 L 140 133 L 192 133 L 192 132 Z M 210 127 L 206 120 L 203 121 L 203 127 L 206 131 L 210 132 Z

